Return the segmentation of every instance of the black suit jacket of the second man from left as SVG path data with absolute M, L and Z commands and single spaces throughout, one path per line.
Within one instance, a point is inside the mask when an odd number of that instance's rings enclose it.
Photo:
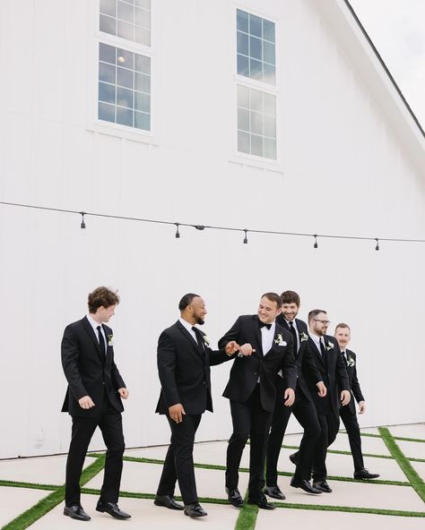
M 212 412 L 210 366 L 229 360 L 225 351 L 212 351 L 205 334 L 196 329 L 203 346 L 177 321 L 160 334 L 157 363 L 160 399 L 155 412 L 169 414 L 169 406 L 181 403 L 187 415 Z

